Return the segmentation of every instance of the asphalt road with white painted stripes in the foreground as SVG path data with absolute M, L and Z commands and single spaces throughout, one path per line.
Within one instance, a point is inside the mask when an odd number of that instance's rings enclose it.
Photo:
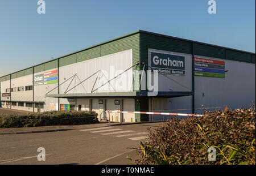
M 97 124 L 96 124 L 97 125 Z M 125 126 L 84 125 L 75 130 L 0 136 L 0 164 L 129 164 L 135 149 L 147 140 L 147 128 L 160 123 Z M 89 126 L 91 128 L 89 128 Z M 87 128 L 86 128 L 87 127 Z M 38 161 L 38 148 L 46 161 Z

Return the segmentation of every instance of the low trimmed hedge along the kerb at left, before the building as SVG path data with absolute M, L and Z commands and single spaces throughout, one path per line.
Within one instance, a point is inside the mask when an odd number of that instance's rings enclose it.
M 86 118 L 73 118 L 86 117 Z M 0 127 L 36 127 L 52 125 L 81 125 L 97 123 L 95 111 L 47 111 L 26 115 L 4 114 L 0 115 Z M 64 119 L 72 118 L 72 119 Z M 23 121 L 26 119 L 26 121 Z

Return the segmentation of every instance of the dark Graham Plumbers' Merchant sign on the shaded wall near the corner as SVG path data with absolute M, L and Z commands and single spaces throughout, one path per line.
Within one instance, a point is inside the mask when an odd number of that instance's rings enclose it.
M 185 75 L 185 57 L 150 51 L 149 62 L 154 72 Z

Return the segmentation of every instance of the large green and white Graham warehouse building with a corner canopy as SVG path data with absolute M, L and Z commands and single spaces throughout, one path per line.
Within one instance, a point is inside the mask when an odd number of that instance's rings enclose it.
M 94 110 L 99 119 L 155 121 L 255 102 L 255 53 L 136 31 L 2 76 L 3 108 Z

